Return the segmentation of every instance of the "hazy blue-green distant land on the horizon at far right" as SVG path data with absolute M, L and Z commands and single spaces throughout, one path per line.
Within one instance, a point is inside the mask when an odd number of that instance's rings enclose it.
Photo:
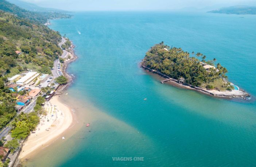
M 208 13 L 226 13 L 237 15 L 256 15 L 256 7 L 254 6 L 232 6 L 209 11 Z

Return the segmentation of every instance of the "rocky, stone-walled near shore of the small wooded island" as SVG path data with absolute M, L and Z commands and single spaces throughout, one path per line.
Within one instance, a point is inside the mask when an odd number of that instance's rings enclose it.
M 180 88 L 185 88 L 185 89 L 189 89 L 189 90 L 194 90 L 194 91 L 198 91 L 202 94 L 206 94 L 209 96 L 213 96 L 213 97 L 217 97 L 217 98 L 222 98 L 222 99 L 243 99 L 243 100 L 247 100 L 247 99 L 251 99 L 251 95 L 249 95 L 247 92 L 245 92 L 244 90 L 240 89 L 240 94 L 232 94 L 230 91 L 225 91 L 225 92 L 221 92 L 221 91 L 210 91 L 210 90 L 206 90 L 203 89 L 201 87 L 196 87 L 190 84 L 180 84 L 179 81 L 177 79 L 173 79 L 168 77 L 167 75 L 164 75 L 163 73 L 156 71 L 154 69 L 150 69 L 142 64 L 140 64 L 140 67 L 143 68 L 144 70 L 157 74 L 165 79 L 168 79 L 168 81 L 166 81 L 165 83 L 168 83 L 172 86 L 175 87 L 180 87 Z M 161 83 L 163 83 L 163 81 L 161 81 Z

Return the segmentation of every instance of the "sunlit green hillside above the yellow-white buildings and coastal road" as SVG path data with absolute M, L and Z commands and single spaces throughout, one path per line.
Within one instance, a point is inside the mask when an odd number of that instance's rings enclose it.
M 26 71 L 28 64 L 50 71 L 53 61 L 62 54 L 58 47 L 61 36 L 44 25 L 31 24 L 9 13 L 0 12 L 0 61 L 1 72 L 9 73 L 11 68 Z M 15 51 L 22 51 L 18 55 Z M 43 68 L 44 67 L 44 68 Z M 46 69 L 49 68 L 49 69 Z

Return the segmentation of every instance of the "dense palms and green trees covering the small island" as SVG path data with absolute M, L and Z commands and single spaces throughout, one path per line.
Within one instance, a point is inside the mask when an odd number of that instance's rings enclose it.
M 195 56 L 201 57 L 201 60 Z M 151 47 L 141 64 L 174 79 L 184 77 L 185 83 L 193 86 L 202 86 L 207 83 L 207 85 L 211 85 L 210 87 L 208 86 L 209 88 L 215 88 L 214 81 L 218 80 L 221 82 L 222 88 L 232 89 L 232 86 L 225 85 L 223 80 L 227 78 L 226 73 L 228 72 L 225 67 L 218 63 L 216 69 L 210 68 L 207 71 L 200 62 L 213 65 L 216 59 L 206 61 L 206 56 L 202 53 L 197 53 L 195 56 L 190 56 L 188 52 L 183 51 L 181 48 L 170 48 L 162 42 Z M 219 87 L 216 87 L 216 89 L 220 90 Z

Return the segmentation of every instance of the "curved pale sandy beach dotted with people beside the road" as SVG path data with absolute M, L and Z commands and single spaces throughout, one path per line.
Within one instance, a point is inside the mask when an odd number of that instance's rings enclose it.
M 35 150 L 47 147 L 49 142 L 56 138 L 62 138 L 61 134 L 72 124 L 73 116 L 71 109 L 59 102 L 58 96 L 54 96 L 44 104 L 47 115 L 40 116 L 40 123 L 35 133 L 31 133 L 24 143 L 19 155 L 20 159 L 26 159 Z M 49 120 L 49 121 L 48 121 Z

